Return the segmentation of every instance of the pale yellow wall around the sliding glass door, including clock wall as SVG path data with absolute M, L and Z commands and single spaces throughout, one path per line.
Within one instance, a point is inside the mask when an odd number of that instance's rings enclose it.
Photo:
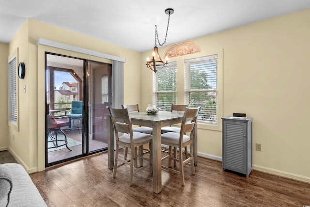
M 140 68 L 136 66 L 136 63 L 140 63 L 140 53 L 28 19 L 9 44 L 8 53 L 19 48 L 19 62 L 25 62 L 26 76 L 24 80 L 18 80 L 18 97 L 22 100 L 19 101 L 19 131 L 9 128 L 8 135 L 6 135 L 6 137 L 15 136 L 15 141 L 10 141 L 9 147 L 28 172 L 45 168 L 45 51 L 110 63 L 109 60 L 103 58 L 37 45 L 38 38 L 125 58 L 124 77 L 130 78 L 133 84 L 125 81 L 124 100 L 127 99 L 127 94 L 129 100 L 140 100 L 140 76 L 136 75 L 140 71 Z M 24 93 L 24 85 L 26 93 Z M 129 94 L 129 91 L 134 91 L 134 93 Z

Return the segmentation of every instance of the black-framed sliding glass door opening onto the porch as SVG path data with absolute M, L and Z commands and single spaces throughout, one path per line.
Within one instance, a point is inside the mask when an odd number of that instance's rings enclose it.
M 111 64 L 46 54 L 46 166 L 107 149 Z

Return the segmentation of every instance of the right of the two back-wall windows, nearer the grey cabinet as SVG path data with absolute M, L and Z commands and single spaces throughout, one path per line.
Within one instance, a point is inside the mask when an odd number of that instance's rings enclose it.
M 185 60 L 185 102 L 201 107 L 198 121 L 217 126 L 217 55 Z

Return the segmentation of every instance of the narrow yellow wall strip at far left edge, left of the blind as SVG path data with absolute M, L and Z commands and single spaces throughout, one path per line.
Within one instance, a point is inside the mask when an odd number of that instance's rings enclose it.
M 9 147 L 8 139 L 8 56 L 9 44 L 0 43 L 0 151 Z

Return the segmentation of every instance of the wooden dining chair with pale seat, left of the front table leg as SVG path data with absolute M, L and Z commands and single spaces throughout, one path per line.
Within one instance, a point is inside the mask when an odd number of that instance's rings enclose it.
M 143 144 L 149 143 L 150 149 L 152 149 L 152 139 L 151 134 L 145 134 L 140 132 L 134 132 L 132 128 L 131 118 L 129 115 L 128 109 L 113 109 L 109 107 L 109 112 L 111 115 L 111 120 L 115 132 L 116 140 L 116 150 L 115 150 L 115 161 L 113 168 L 113 178 L 116 175 L 117 168 L 123 166 L 124 164 L 130 165 L 130 175 L 129 175 L 129 186 L 132 185 L 133 174 L 138 173 L 139 171 L 145 169 L 147 166 L 151 166 L 152 172 L 152 151 L 150 150 L 150 158 L 143 157 L 142 155 L 137 155 L 137 147 L 142 146 Z M 125 135 L 119 136 L 120 133 L 126 133 Z M 130 160 L 120 159 L 119 158 L 119 146 L 124 146 L 130 148 Z M 137 162 L 137 159 L 146 159 L 149 161 L 143 167 L 138 168 L 134 171 L 134 162 Z M 121 164 L 118 165 L 118 162 Z

